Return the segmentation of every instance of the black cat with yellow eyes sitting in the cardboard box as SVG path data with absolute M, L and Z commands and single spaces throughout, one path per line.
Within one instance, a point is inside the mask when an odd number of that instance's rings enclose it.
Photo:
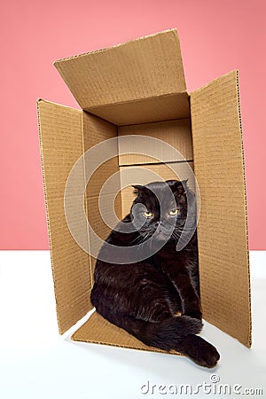
M 146 345 L 174 349 L 197 364 L 214 367 L 218 352 L 196 335 L 202 321 L 195 207 L 188 212 L 188 204 L 195 204 L 195 195 L 186 181 L 168 180 L 134 188 L 137 197 L 130 214 L 106 243 L 121 249 L 137 245 L 136 251 L 141 254 L 149 240 L 151 255 L 146 257 L 145 252 L 144 260 L 121 262 L 121 250 L 119 262 L 108 262 L 105 243 L 96 262 L 91 302 L 100 315 Z M 188 214 L 192 223 L 186 225 Z M 125 232 L 126 223 L 133 223 L 135 231 Z M 176 251 L 184 229 L 192 227 L 191 239 Z M 158 247 L 155 253 L 154 247 L 155 251 Z

